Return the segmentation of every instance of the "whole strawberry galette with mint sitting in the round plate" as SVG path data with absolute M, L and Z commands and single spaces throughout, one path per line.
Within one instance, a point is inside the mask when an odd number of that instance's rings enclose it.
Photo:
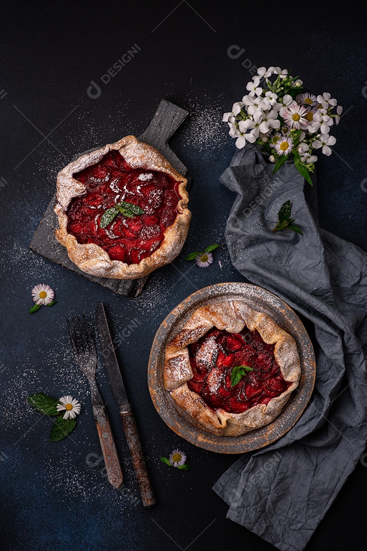
M 165 349 L 166 391 L 216 435 L 273 421 L 300 376 L 293 337 L 239 300 L 199 307 Z

